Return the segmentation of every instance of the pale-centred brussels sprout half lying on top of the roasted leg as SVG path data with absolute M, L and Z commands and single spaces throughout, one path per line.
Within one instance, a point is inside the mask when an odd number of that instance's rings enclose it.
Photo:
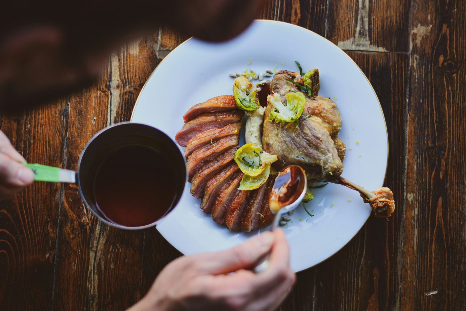
M 285 95 L 287 103 L 283 104 L 280 95 L 273 93 L 267 97 L 269 103 L 275 108 L 269 111 L 269 121 L 294 122 L 301 117 L 306 98 L 301 92 L 292 92 Z

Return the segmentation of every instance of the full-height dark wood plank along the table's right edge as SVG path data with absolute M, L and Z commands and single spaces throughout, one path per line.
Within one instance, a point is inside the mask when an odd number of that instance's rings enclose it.
M 411 5 L 406 310 L 466 309 L 465 16 L 462 0 Z

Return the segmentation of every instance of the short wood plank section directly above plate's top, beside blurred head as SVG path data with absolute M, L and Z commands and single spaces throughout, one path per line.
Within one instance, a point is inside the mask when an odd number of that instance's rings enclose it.
M 273 0 L 268 1 L 261 17 L 266 20 L 286 21 L 325 36 L 326 0 Z

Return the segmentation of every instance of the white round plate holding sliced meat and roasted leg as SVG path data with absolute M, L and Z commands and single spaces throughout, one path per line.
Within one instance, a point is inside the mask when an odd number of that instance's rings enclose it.
M 232 41 L 220 44 L 185 41 L 149 77 L 131 121 L 153 125 L 174 138 L 183 126 L 183 115 L 192 105 L 218 95 L 233 95 L 233 78 L 229 73 L 250 67 L 265 72 L 275 66 L 276 70 L 297 71 L 295 60 L 303 70 L 318 68 L 319 95 L 336 98 L 343 117 L 339 137 L 347 146 L 343 176 L 370 190 L 381 187 L 387 167 L 387 130 L 374 90 L 356 63 L 340 48 L 291 24 L 254 21 Z M 157 226 L 165 239 L 183 254 L 230 248 L 260 234 L 260 231 L 230 232 L 217 225 L 200 210 L 200 200 L 191 196 L 189 187 L 187 183 L 178 207 Z M 315 199 L 307 208 L 315 216 L 310 217 L 298 207 L 291 216 L 293 222 L 285 229 L 295 271 L 312 267 L 335 254 L 356 235 L 371 211 L 356 191 L 343 186 L 329 184 L 314 193 Z

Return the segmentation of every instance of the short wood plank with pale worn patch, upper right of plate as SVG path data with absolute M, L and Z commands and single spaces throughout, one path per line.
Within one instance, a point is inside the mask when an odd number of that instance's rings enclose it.
M 346 50 L 408 52 L 410 0 L 329 1 L 327 38 Z

